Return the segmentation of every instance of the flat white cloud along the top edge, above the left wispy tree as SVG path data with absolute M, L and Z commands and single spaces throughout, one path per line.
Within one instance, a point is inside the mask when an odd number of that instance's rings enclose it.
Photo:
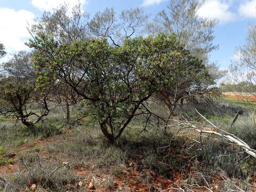
M 86 4 L 88 0 L 32 0 L 32 5 L 42 11 L 51 11 L 57 8 L 63 3 L 66 3 L 70 7 L 75 6 L 78 2 L 82 5 Z

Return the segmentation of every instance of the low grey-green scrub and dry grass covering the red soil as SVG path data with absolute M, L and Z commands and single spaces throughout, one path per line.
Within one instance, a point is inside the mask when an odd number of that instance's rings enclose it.
M 233 129 L 230 130 L 230 123 L 239 107 L 225 100 L 221 102 L 221 105 L 217 103 L 210 109 L 209 106 L 206 108 L 205 104 L 196 106 L 211 122 L 246 140 L 252 148 L 255 148 L 255 130 L 251 116 L 246 113 L 239 116 Z M 184 117 L 189 116 L 191 121 L 199 118 L 194 113 L 194 107 L 187 103 L 182 108 Z M 175 113 L 178 113 L 179 109 L 176 110 Z M 60 115 L 56 114 L 56 117 L 61 121 Z M 55 118 L 55 121 L 58 119 Z M 120 187 L 124 191 L 135 190 L 132 184 L 134 182 L 138 182 L 141 188 L 150 187 L 155 191 L 175 185 L 181 188 L 190 187 L 191 190 L 207 185 L 210 188 L 217 185 L 221 189 L 219 191 L 234 189 L 235 185 L 245 191 L 254 190 L 250 183 L 254 177 L 255 158 L 247 156 L 243 150 L 230 143 L 221 142 L 215 137 L 203 138 L 202 146 L 201 143 L 195 142 L 195 140 L 199 141 L 199 136 L 193 132 L 182 133 L 174 128 L 156 129 L 152 124 L 148 125 L 146 131 L 141 132 L 144 127 L 137 125 L 137 129 L 127 128 L 123 136 L 113 145 L 103 137 L 99 125 L 94 124 L 92 119 L 74 124 L 71 130 L 68 129 L 70 127 L 63 128 L 61 134 L 56 135 L 52 132 L 51 139 L 49 137 L 43 139 L 44 133 L 38 133 L 34 138 L 28 133 L 26 136 L 20 132 L 14 134 L 12 130 L 15 130 L 15 124 L 11 125 L 6 127 L 5 131 L 15 140 L 3 139 L 5 140 L 2 145 L 4 147 L 1 148 L 3 163 L 0 167 L 10 166 L 11 172 L 13 165 L 18 165 L 21 171 L 14 176 L 4 174 L 9 183 L 7 191 L 18 188 L 26 190 L 32 184 L 42 190 L 83 191 L 93 178 L 94 187 L 106 191 L 117 190 Z M 133 125 L 136 125 L 136 120 Z M 21 141 L 21 143 L 13 149 L 10 147 L 11 141 Z M 40 156 L 41 165 L 38 163 L 37 154 Z M 61 167 L 54 173 L 53 178 L 49 178 L 55 167 L 63 162 L 68 162 L 68 166 Z M 157 181 L 159 175 L 161 178 Z M 126 177 L 131 179 L 126 180 Z M 124 185 L 118 182 L 118 178 L 123 178 Z M 79 182 L 84 183 L 84 188 L 79 187 Z M 161 185 L 156 185 L 157 182 Z M 2 182 L 1 185 L 4 189 L 5 183 Z

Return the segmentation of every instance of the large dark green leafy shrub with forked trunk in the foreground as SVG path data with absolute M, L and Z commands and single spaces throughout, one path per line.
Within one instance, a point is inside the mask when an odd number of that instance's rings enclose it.
M 153 93 L 163 92 L 165 86 L 171 93 L 178 86 L 179 100 L 188 87 L 196 91 L 209 77 L 202 62 L 174 34 L 127 38 L 123 46 L 113 47 L 104 38 L 60 43 L 38 33 L 27 44 L 36 50 L 38 88 L 56 82 L 71 87 L 110 142 L 121 136 L 134 116 L 150 113 L 144 104 Z

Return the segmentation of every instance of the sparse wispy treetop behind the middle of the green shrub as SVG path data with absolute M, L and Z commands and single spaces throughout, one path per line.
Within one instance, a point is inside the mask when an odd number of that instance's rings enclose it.
M 122 45 L 126 38 L 138 36 L 149 18 L 142 9 L 124 10 L 116 16 L 113 8 L 97 12 L 89 23 L 92 37 L 104 37 L 116 45 Z

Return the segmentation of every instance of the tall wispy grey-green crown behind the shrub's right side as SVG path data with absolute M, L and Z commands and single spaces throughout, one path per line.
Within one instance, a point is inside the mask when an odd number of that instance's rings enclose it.
M 192 55 L 207 61 L 208 53 L 218 49 L 212 44 L 213 28 L 218 22 L 198 17 L 197 11 L 203 3 L 199 0 L 170 0 L 167 10 L 157 14 L 154 24 L 159 31 L 174 32 Z

